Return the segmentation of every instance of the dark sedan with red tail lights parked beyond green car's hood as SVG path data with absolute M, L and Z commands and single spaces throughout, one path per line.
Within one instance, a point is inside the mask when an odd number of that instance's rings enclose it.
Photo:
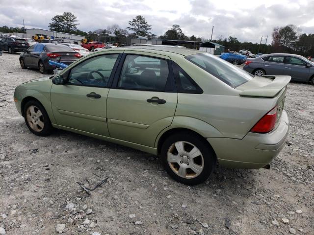
M 51 73 L 55 66 L 49 65 L 49 60 L 70 65 L 81 55 L 62 44 L 37 43 L 20 55 L 22 69 L 35 68 L 41 73 Z

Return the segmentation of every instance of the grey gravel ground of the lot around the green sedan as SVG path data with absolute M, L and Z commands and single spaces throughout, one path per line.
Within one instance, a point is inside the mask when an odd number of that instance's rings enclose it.
M 289 84 L 291 129 L 270 170 L 218 166 L 188 187 L 156 156 L 61 130 L 31 134 L 12 96 L 41 74 L 18 58 L 0 56 L 0 235 L 314 234 L 314 86 Z M 91 196 L 76 183 L 107 177 Z

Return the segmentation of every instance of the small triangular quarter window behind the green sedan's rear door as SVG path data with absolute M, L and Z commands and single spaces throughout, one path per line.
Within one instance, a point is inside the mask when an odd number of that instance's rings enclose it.
M 196 82 L 175 62 L 172 62 L 172 69 L 179 93 L 203 93 L 203 90 L 196 84 Z

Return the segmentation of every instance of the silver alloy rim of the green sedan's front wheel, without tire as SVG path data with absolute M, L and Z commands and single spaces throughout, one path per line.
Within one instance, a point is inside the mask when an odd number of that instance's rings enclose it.
M 34 105 L 30 105 L 26 110 L 26 120 L 29 127 L 36 131 L 40 132 L 44 128 L 44 116 L 39 108 Z

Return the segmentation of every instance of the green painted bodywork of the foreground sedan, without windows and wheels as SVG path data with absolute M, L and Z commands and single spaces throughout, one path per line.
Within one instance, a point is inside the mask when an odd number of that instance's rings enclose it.
M 158 154 L 159 140 L 176 129 L 200 134 L 212 146 L 219 164 L 260 168 L 281 150 L 288 134 L 288 116 L 281 111 L 276 128 L 266 134 L 251 128 L 273 107 L 284 102 L 288 76 L 259 77 L 233 88 L 185 57 L 204 53 L 172 47 L 114 48 L 91 53 L 58 75 L 94 56 L 139 54 L 178 64 L 203 90 L 202 94 L 134 91 L 117 88 L 56 85 L 48 77 L 18 86 L 14 97 L 22 115 L 25 100 L 33 97 L 45 107 L 52 126 Z M 100 94 L 101 98 L 86 97 Z M 151 98 L 165 104 L 148 103 Z M 265 98 L 267 97 L 267 98 Z

